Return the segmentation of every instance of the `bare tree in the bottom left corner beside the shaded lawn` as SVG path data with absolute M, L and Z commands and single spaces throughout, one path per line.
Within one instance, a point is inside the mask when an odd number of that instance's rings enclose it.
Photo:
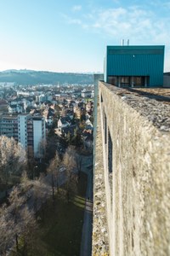
M 3 205 L 0 208 L 0 255 L 6 255 L 11 248 L 14 255 L 27 255 L 35 239 L 36 218 L 21 194 L 21 190 L 14 187 L 8 198 L 8 207 Z M 19 243 L 19 239 L 22 242 Z

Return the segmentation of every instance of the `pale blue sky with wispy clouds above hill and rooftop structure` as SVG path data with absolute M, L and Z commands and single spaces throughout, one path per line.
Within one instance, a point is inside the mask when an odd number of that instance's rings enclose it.
M 170 71 L 170 2 L 1 0 L 0 70 L 103 72 L 106 45 L 165 45 Z

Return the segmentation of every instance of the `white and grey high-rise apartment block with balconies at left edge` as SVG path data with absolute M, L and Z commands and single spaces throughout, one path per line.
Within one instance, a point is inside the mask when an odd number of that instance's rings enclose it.
M 31 114 L 1 115 L 0 135 L 14 137 L 29 155 L 41 158 L 46 140 L 45 119 Z

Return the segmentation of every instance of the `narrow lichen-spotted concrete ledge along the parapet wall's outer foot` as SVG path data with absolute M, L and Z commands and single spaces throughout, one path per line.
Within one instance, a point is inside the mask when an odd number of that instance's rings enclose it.
M 93 223 L 93 256 L 109 255 L 109 240 L 106 220 L 105 178 L 102 155 L 101 122 L 98 112 L 96 157 L 94 166 L 94 223 Z

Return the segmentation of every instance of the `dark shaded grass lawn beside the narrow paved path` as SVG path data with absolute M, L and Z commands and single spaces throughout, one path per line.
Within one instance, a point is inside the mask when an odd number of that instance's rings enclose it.
M 82 173 L 77 195 L 69 203 L 58 197 L 54 207 L 52 201 L 48 201 L 43 221 L 37 231 L 36 251 L 33 255 L 80 255 L 86 187 L 87 177 Z M 42 217 L 42 213 L 39 217 Z

